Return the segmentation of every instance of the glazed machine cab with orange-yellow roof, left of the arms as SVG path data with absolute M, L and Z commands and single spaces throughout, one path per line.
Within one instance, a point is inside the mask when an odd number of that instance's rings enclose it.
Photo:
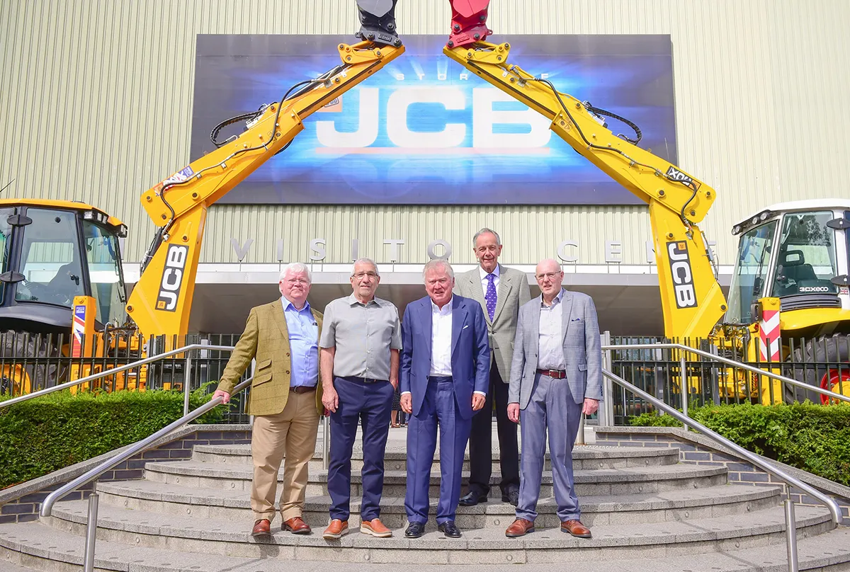
M 73 201 L 0 201 L 0 329 L 65 332 L 75 296 L 96 326 L 127 319 L 119 250 L 127 227 Z

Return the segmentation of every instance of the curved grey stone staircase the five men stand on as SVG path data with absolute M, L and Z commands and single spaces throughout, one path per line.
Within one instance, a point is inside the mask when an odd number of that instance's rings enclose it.
M 339 569 L 368 564 L 369 569 L 417 569 L 450 564 L 473 567 L 525 564 L 552 570 L 581 563 L 582 572 L 686 572 L 787 570 L 785 516 L 779 490 L 728 484 L 723 467 L 679 462 L 675 448 L 577 446 L 575 481 L 584 524 L 592 540 L 560 530 L 553 500 L 552 473 L 543 477 L 536 532 L 509 539 L 513 507 L 501 502 L 498 486 L 490 501 L 458 507 L 460 539 L 436 530 L 433 509 L 439 467 L 431 476 L 432 519 L 420 539 L 404 537 L 405 453 L 388 450 L 382 514 L 393 538 L 359 533 L 360 467 L 353 459 L 354 530 L 340 541 L 326 541 L 327 473 L 320 456 L 310 465 L 305 520 L 313 535 L 280 532 L 280 518 L 269 540 L 249 533 L 248 499 L 252 466 L 249 445 L 196 445 L 188 461 L 149 462 L 144 479 L 100 483 L 95 567 L 128 572 L 204 570 Z M 493 457 L 498 474 L 498 456 Z M 282 470 L 281 470 L 282 474 Z M 494 479 L 495 481 L 496 479 Z M 279 491 L 280 492 L 280 491 Z M 54 516 L 24 524 L 0 525 L 0 572 L 26 569 L 80 569 L 88 501 L 62 501 Z M 796 507 L 801 570 L 850 570 L 850 529 L 835 529 L 824 507 Z

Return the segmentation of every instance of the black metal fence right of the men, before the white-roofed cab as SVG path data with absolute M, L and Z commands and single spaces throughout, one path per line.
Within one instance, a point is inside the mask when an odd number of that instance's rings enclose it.
M 682 343 L 760 370 L 791 377 L 810 386 L 850 396 L 850 337 L 789 338 L 782 342 L 785 345 L 780 344 L 780 357 L 776 361 L 761 359 L 759 339 L 749 342 L 752 344 L 753 351 L 750 354 L 755 356 L 754 360 L 748 359 L 745 349 L 734 344 L 718 348 L 702 339 L 611 337 L 610 345 Z M 683 399 L 688 399 L 689 407 L 706 404 L 792 403 L 806 399 L 813 403 L 836 401 L 805 388 L 796 388 L 790 383 L 771 380 L 741 367 L 675 348 L 614 349 L 610 352 L 609 363 L 613 373 L 679 410 L 683 408 Z M 683 392 L 683 386 L 688 391 Z M 616 384 L 613 384 L 612 397 L 615 425 L 625 425 L 631 416 L 655 411 L 652 405 Z

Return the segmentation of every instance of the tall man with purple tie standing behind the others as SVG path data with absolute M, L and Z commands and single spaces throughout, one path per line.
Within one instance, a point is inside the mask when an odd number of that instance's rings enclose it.
M 473 252 L 479 267 L 458 276 L 455 292 L 477 300 L 484 309 L 492 350 L 490 390 L 484 408 L 473 416 L 469 435 L 469 490 L 460 504 L 471 507 L 487 501 L 492 473 L 492 417 L 496 401 L 496 429 L 499 435 L 501 500 L 515 507 L 519 501 L 519 447 L 517 426 L 507 418 L 507 381 L 513 357 L 513 337 L 517 331 L 519 307 L 531 293 L 524 272 L 498 263 L 501 239 L 495 230 L 480 229 L 473 236 Z

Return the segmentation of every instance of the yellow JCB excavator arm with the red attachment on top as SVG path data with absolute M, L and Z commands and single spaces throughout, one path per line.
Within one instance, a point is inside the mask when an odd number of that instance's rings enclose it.
M 484 39 L 490 0 L 450 0 L 443 53 L 552 120 L 581 156 L 649 205 L 667 337 L 707 337 L 726 311 L 711 250 L 697 224 L 715 200 L 711 187 L 604 127 L 602 114 L 509 62 L 509 43 Z

